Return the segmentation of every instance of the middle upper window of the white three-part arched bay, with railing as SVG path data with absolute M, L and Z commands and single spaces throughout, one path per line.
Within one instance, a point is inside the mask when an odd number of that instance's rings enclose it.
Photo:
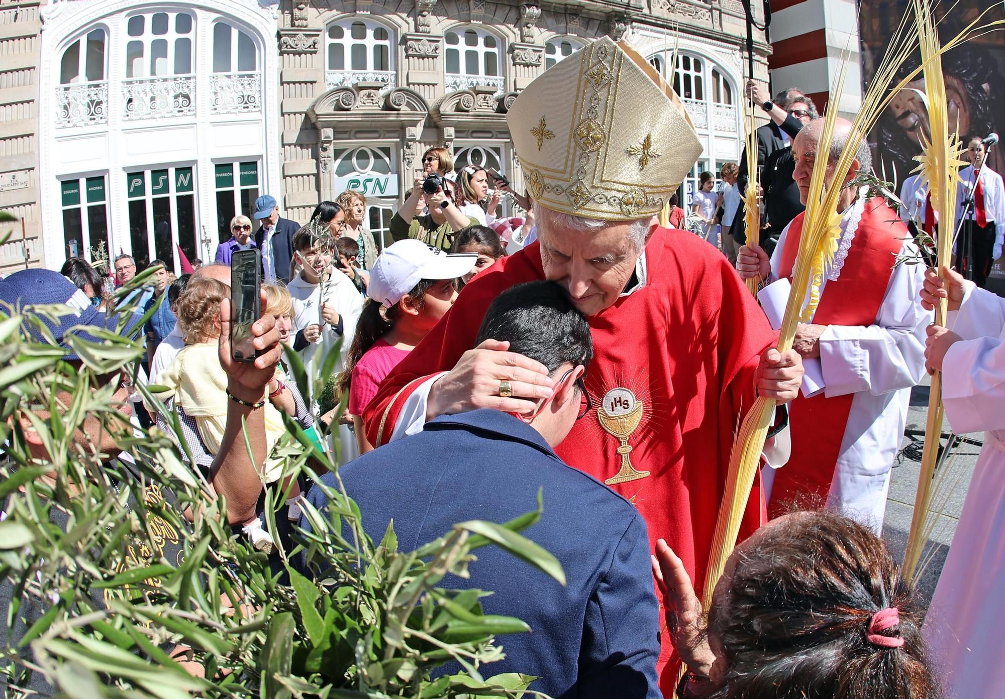
M 192 15 L 186 12 L 133 15 L 126 23 L 126 34 L 123 120 L 194 114 Z

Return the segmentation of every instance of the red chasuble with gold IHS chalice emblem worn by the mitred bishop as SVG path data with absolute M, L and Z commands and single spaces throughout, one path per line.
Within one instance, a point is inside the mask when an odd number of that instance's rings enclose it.
M 700 589 L 734 429 L 754 403 L 760 355 L 777 335 L 726 257 L 694 234 L 657 229 L 646 263 L 645 286 L 590 318 L 595 356 L 586 386 L 597 409 L 576 423 L 557 452 L 634 503 L 650 543 L 666 539 Z M 452 369 L 474 346 L 492 299 L 544 276 L 535 243 L 465 286 L 381 385 L 364 416 L 370 443 L 390 438 L 405 399 L 426 377 Z M 762 521 L 760 483 L 755 488 L 742 535 Z M 549 498 L 561 497 L 544 494 L 544 516 Z M 667 639 L 664 634 L 660 685 L 672 696 L 676 663 L 665 667 L 672 651 Z

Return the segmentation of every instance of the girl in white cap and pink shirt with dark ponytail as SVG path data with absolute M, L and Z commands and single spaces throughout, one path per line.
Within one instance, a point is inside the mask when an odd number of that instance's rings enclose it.
M 447 255 L 420 240 L 399 240 L 377 257 L 356 334 L 339 379 L 349 392 L 360 454 L 373 449 L 363 428 L 363 411 L 377 388 L 426 336 L 457 297 L 453 280 L 471 271 L 476 254 Z

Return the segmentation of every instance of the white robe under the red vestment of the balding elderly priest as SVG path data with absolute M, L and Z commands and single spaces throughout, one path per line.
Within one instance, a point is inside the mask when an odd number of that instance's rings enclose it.
M 841 241 L 824 274 L 821 294 L 828 278 L 840 276 L 864 205 L 865 199 L 860 196 L 841 218 Z M 779 278 L 788 233 L 786 226 L 771 258 L 772 279 Z M 917 251 L 915 244 L 907 240 L 900 254 L 917 255 Z M 891 256 L 891 266 L 893 262 Z M 819 363 L 818 376 L 823 378 L 825 396 L 854 394 L 827 505 L 844 510 L 877 533 L 882 531 L 889 472 L 903 438 L 911 387 L 925 374 L 925 328 L 932 321 L 932 313 L 922 307 L 919 299 L 924 280 L 924 265 L 896 265 L 875 322 L 828 325 L 819 339 L 820 359 L 804 360 L 807 374 L 813 363 Z M 772 479 L 770 471 L 764 469 L 762 473 Z

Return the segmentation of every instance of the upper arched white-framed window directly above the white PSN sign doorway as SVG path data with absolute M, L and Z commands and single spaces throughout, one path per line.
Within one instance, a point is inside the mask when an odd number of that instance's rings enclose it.
M 326 82 L 342 87 L 360 81 L 397 84 L 394 32 L 372 19 L 344 19 L 330 24 L 325 37 Z

